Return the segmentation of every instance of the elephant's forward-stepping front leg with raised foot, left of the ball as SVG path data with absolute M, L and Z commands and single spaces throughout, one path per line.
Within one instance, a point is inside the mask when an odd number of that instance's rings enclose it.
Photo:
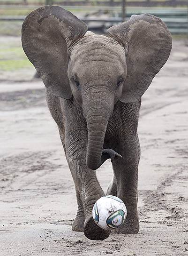
M 74 179 L 76 188 L 76 197 L 79 204 L 82 203 L 84 210 L 84 226 L 83 231 L 87 238 L 91 240 L 104 240 L 110 232 L 105 231 L 95 224 L 92 217 L 92 208 L 95 202 L 102 196 L 104 192 L 98 183 L 96 172 L 86 166 L 87 151 L 87 128 L 84 120 L 71 120 L 72 125 L 68 125 L 65 130 L 65 148 L 71 174 Z M 73 223 L 78 226 L 78 222 L 83 223 L 83 215 L 78 216 Z M 79 230 L 81 227 L 79 227 Z

